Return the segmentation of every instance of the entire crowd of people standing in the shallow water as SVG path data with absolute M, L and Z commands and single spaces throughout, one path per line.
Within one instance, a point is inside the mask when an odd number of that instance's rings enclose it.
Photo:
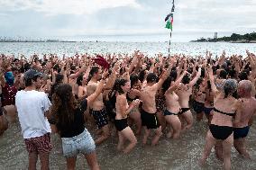
M 209 125 L 201 166 L 212 148 L 224 169 L 231 169 L 233 146 L 250 158 L 245 139 L 256 112 L 256 56 L 249 51 L 215 58 L 209 51 L 197 58 L 134 51 L 0 59 L 0 136 L 18 118 L 29 169 L 38 156 L 41 169 L 49 169 L 50 133 L 59 133 L 68 169 L 75 169 L 78 153 L 99 169 L 96 146 L 105 140 L 118 137 L 116 149 L 128 154 L 140 136 L 151 146 L 163 134 L 179 139 L 195 126 L 193 112 Z M 97 129 L 97 139 L 85 124 Z

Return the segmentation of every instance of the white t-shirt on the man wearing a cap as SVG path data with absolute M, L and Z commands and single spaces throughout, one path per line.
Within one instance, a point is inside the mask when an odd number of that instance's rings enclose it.
M 22 127 L 23 139 L 41 137 L 51 132 L 50 123 L 44 112 L 50 109 L 50 100 L 44 92 L 18 91 L 15 105 Z

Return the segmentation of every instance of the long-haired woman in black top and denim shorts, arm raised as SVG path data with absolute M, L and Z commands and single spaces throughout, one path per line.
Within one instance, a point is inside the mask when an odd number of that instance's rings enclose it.
M 62 140 L 68 169 L 75 169 L 79 152 L 86 157 L 90 169 L 99 169 L 95 141 L 85 128 L 84 112 L 101 94 L 104 83 L 105 76 L 99 81 L 95 93 L 90 94 L 81 103 L 76 102 L 72 86 L 68 84 L 59 85 L 53 94 L 53 122 Z

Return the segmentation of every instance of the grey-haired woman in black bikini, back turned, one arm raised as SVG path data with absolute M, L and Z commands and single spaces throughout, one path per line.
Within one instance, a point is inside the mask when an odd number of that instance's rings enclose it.
M 214 94 L 214 115 L 206 135 L 206 145 L 200 159 L 200 164 L 203 165 L 206 162 L 211 149 L 216 143 L 220 143 L 223 147 L 224 169 L 230 169 L 230 155 L 233 146 L 233 117 L 237 103 L 232 94 L 236 91 L 237 83 L 234 79 L 227 79 L 224 81 L 224 89 L 218 91 L 211 67 L 208 68 L 208 73 Z

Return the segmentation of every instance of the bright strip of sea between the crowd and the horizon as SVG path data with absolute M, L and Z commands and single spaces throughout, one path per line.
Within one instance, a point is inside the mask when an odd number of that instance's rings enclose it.
M 14 54 L 18 57 L 24 54 L 26 57 L 36 53 L 42 54 L 63 54 L 73 56 L 78 53 L 133 53 L 135 49 L 154 57 L 157 53 L 168 55 L 169 42 L 0 42 L 0 53 Z M 214 56 L 221 55 L 225 50 L 227 55 L 239 54 L 245 56 L 248 49 L 256 53 L 254 43 L 226 43 L 226 42 L 171 42 L 170 53 L 186 54 L 190 56 L 204 56 L 206 49 Z

